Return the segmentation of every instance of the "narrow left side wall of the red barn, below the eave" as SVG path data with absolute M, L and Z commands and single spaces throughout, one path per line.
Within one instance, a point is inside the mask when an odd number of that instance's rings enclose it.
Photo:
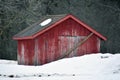
M 32 65 L 34 61 L 34 41 L 18 41 L 18 63 Z

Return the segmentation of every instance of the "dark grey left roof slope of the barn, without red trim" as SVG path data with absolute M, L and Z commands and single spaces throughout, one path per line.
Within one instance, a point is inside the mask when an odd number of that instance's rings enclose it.
M 32 36 L 32 35 L 38 33 L 39 31 L 41 31 L 41 30 L 49 27 L 50 25 L 54 24 L 55 22 L 61 20 L 65 16 L 67 16 L 67 14 L 44 16 L 38 22 L 36 22 L 35 24 L 27 27 L 23 31 L 16 34 L 14 37 L 21 37 L 22 38 L 22 37 Z M 40 23 L 42 23 L 46 19 L 52 19 L 52 21 L 50 23 L 48 23 L 47 25 L 45 25 L 45 26 L 41 26 Z

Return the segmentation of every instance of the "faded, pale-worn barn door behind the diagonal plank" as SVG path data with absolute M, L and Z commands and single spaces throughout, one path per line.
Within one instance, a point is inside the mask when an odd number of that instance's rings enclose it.
M 81 41 L 80 36 L 59 36 L 59 53 L 60 56 L 64 55 L 64 53 L 73 48 L 78 42 Z M 72 51 L 68 57 L 76 56 L 78 53 L 78 49 Z

